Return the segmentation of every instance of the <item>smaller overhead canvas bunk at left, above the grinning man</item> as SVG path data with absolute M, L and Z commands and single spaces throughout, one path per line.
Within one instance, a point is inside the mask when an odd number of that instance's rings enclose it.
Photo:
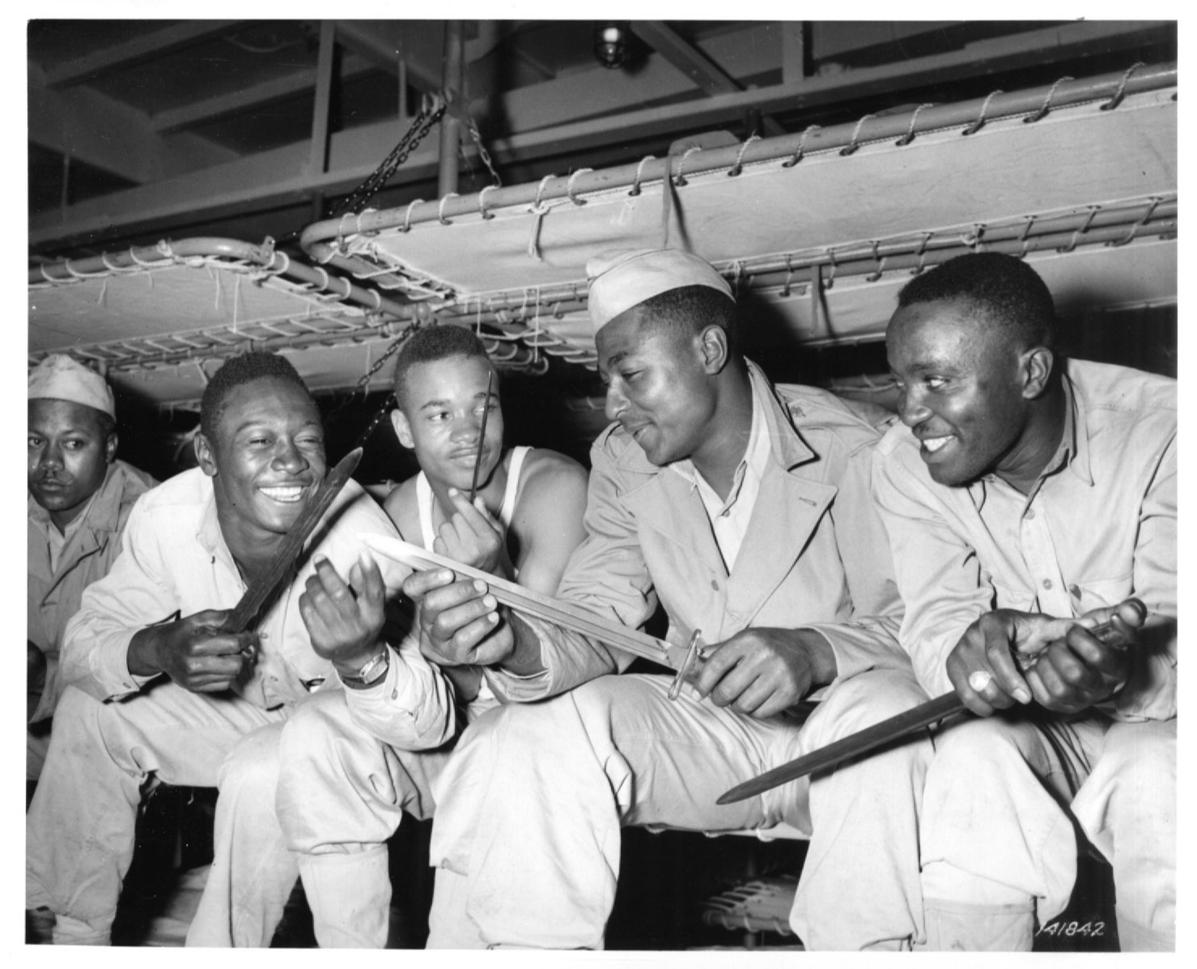
M 316 391 L 354 386 L 419 312 L 268 239 L 193 238 L 29 270 L 30 364 L 69 351 L 144 400 L 198 407 L 220 361 L 247 349 L 287 356 Z M 533 353 L 488 349 L 530 365 Z M 379 376 L 385 382 L 387 373 Z

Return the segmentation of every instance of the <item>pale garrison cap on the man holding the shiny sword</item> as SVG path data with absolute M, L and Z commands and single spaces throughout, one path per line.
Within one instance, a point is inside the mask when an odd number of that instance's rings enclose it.
M 733 299 L 713 266 L 682 249 L 619 249 L 587 263 L 588 306 L 595 330 L 625 310 L 682 286 L 709 286 Z

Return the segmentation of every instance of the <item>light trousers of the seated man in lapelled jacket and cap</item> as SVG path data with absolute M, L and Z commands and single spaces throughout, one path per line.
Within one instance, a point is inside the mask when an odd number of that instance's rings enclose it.
M 926 739 L 813 782 L 725 806 L 733 785 L 926 699 L 913 675 L 837 682 L 801 729 L 699 700 L 669 678 L 606 676 L 491 711 L 436 786 L 429 945 L 596 949 L 615 895 L 620 827 L 810 834 L 791 915 L 809 947 L 920 938 L 918 800 Z M 867 766 L 867 769 L 862 769 Z

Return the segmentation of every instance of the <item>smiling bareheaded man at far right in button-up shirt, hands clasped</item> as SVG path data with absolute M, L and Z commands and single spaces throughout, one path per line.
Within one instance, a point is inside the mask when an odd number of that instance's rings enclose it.
M 906 426 L 874 489 L 901 641 L 983 718 L 926 772 L 928 945 L 1029 949 L 1076 877 L 1070 806 L 1113 866 L 1122 947 L 1171 950 L 1175 382 L 1064 360 L 1053 330 L 1034 269 L 986 252 L 907 284 L 886 337 Z M 1114 613 L 1122 645 L 1084 628 Z

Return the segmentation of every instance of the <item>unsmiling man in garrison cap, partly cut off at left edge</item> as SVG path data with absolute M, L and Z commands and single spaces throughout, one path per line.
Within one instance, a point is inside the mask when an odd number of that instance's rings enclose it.
M 138 495 L 153 479 L 116 458 L 108 383 L 66 354 L 29 374 L 29 731 L 36 780 L 61 693 L 59 647 L 83 590 L 108 573 Z

